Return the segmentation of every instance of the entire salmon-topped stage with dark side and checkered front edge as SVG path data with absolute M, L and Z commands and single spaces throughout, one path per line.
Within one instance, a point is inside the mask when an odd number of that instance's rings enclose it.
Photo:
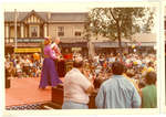
M 61 78 L 63 82 L 63 78 Z M 56 88 L 40 89 L 40 78 L 27 77 L 10 81 L 10 88 L 6 88 L 6 109 L 61 109 L 63 104 L 63 85 Z M 96 93 L 90 96 L 90 108 L 95 108 Z M 45 107 L 46 106 L 46 107 Z

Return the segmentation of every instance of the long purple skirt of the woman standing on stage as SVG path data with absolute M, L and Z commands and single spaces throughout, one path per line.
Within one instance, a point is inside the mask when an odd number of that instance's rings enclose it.
M 59 75 L 55 71 L 54 61 L 52 59 L 44 59 L 41 79 L 40 79 L 40 88 L 45 88 L 45 86 L 56 86 L 61 84 L 62 81 L 59 79 Z

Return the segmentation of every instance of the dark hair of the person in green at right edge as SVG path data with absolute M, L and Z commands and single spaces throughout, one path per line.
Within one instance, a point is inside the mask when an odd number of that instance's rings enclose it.
M 148 85 L 156 84 L 156 73 L 155 72 L 148 72 L 148 73 L 146 73 L 146 75 L 145 75 L 145 82 Z

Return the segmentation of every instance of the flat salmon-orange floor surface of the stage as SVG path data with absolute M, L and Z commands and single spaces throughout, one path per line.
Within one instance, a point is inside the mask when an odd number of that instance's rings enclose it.
M 51 87 L 39 89 L 39 77 L 11 79 L 10 88 L 6 88 L 6 107 L 51 102 Z

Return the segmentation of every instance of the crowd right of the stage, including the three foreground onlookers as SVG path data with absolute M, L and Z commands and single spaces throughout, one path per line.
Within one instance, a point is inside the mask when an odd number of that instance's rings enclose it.
M 80 54 L 75 56 L 81 57 Z M 64 77 L 63 109 L 89 108 L 92 86 L 97 89 L 97 108 L 157 107 L 154 54 L 101 54 L 81 60 L 80 63 L 74 61 L 74 68 Z M 83 81 L 84 76 L 90 82 Z

